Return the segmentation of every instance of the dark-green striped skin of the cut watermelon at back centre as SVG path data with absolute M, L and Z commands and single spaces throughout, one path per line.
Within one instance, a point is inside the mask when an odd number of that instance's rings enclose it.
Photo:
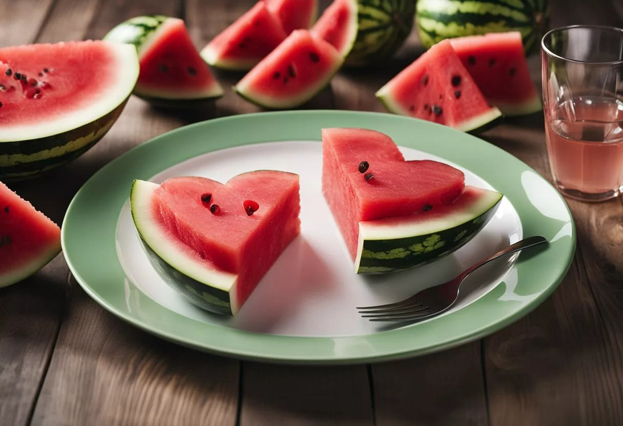
M 358 31 L 345 64 L 369 65 L 388 59 L 409 37 L 416 0 L 358 0 Z

